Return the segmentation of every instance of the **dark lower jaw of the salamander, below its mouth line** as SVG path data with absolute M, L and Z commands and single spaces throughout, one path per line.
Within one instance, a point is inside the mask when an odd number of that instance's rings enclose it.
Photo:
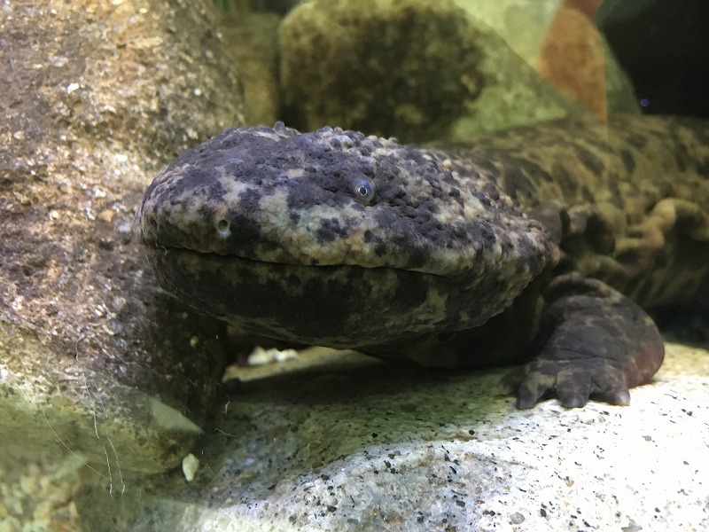
M 471 286 L 393 268 L 258 262 L 146 246 L 160 286 L 240 331 L 334 348 L 411 340 L 482 325 L 509 304 L 503 286 Z

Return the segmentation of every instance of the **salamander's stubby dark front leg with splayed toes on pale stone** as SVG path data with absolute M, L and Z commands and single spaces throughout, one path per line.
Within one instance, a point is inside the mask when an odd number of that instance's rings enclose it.
M 552 280 L 544 299 L 534 342 L 539 354 L 503 379 L 503 387 L 517 394 L 518 408 L 532 408 L 550 391 L 568 408 L 591 396 L 627 404 L 628 388 L 658 371 L 665 356 L 662 337 L 651 317 L 623 294 L 570 274 Z

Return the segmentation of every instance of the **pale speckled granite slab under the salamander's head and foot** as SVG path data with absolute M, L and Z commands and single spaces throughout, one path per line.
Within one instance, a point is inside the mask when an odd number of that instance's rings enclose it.
M 489 395 L 503 370 L 293 363 L 232 391 L 191 484 L 85 489 L 77 507 L 105 530 L 705 529 L 709 353 L 667 351 L 630 406 L 582 410 L 515 411 Z

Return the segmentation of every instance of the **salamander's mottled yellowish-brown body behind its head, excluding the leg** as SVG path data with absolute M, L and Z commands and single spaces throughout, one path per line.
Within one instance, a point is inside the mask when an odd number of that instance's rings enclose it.
M 644 308 L 709 293 L 709 122 L 550 122 L 471 147 L 523 210 L 556 204 L 565 271 L 600 278 Z

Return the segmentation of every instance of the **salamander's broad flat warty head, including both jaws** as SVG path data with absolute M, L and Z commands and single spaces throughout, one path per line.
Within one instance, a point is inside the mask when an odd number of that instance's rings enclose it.
M 554 249 L 464 161 L 283 124 L 230 129 L 183 153 L 145 192 L 136 233 L 161 284 L 193 306 L 250 331 L 347 347 L 402 327 L 480 325 Z M 293 313 L 308 323 L 293 325 Z M 321 317 L 329 325 L 312 323 Z

